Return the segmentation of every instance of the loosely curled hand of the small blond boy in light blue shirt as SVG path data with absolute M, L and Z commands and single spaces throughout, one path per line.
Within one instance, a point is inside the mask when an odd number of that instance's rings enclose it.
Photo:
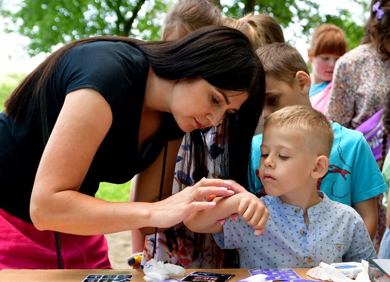
M 239 193 L 238 195 L 241 196 L 237 210 L 238 214 L 249 226 L 254 228 L 254 235 L 263 234 L 264 226 L 268 221 L 268 209 L 260 199 L 250 192 Z

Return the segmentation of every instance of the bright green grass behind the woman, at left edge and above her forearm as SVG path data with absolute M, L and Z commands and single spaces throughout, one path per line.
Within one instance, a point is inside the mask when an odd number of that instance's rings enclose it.
M 5 99 L 14 91 L 25 76 L 25 74 L 0 73 L 0 112 L 4 110 Z M 102 182 L 95 196 L 111 202 L 127 202 L 130 195 L 130 183 L 131 181 L 116 185 Z

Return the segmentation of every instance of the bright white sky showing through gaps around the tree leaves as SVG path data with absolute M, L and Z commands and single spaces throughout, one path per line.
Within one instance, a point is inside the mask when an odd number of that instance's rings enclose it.
M 229 3 L 231 0 L 221 0 Z M 320 2 L 320 14 L 335 14 L 336 7 L 349 8 L 352 14 L 356 14 L 356 20 L 361 20 L 362 8 L 356 3 L 350 3 L 349 0 L 317 0 Z M 10 9 L 17 10 L 20 0 L 4 1 L 8 2 Z M 356 4 L 356 5 L 355 5 Z M 4 32 L 4 23 L 7 19 L 0 17 L 0 73 L 29 73 L 34 70 L 39 63 L 46 57 L 45 54 L 39 54 L 35 57 L 28 56 L 23 46 L 29 42 L 29 38 L 19 34 L 6 34 Z M 302 36 L 296 38 L 293 35 L 294 26 L 284 30 L 286 40 L 292 39 L 295 42 L 295 48 L 301 53 L 305 61 L 307 60 L 308 38 Z

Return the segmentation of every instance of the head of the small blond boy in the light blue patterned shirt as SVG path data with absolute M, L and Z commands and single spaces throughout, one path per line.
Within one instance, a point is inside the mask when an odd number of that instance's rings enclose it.
M 332 143 L 330 122 L 311 107 L 289 106 L 272 113 L 264 123 L 259 166 L 266 193 L 315 189 L 328 171 Z

